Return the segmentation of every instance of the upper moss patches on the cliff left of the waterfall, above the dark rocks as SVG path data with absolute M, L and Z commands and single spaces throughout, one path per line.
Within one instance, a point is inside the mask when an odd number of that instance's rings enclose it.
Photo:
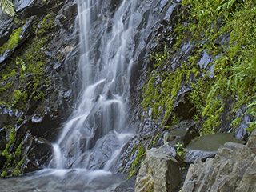
M 22 110 L 28 99 L 42 100 L 45 93 L 42 91 L 49 85 L 49 78 L 45 74 L 46 45 L 52 39 L 49 30 L 54 28 L 54 14 L 47 14 L 42 22 L 34 25 L 34 38 L 25 45 L 26 48 L 12 58 L 0 75 L 0 103 L 13 109 Z M 46 31 L 48 31 L 46 33 Z M 0 53 L 14 49 L 20 40 L 22 26 L 13 31 L 10 39 L 0 47 Z M 17 77 L 21 81 L 16 82 Z M 14 83 L 15 82 L 15 83 Z

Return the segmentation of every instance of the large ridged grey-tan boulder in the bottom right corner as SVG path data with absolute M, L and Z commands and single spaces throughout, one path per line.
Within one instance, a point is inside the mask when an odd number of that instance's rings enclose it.
M 190 165 L 182 191 L 235 191 L 254 158 L 248 146 L 226 142 L 215 158 Z

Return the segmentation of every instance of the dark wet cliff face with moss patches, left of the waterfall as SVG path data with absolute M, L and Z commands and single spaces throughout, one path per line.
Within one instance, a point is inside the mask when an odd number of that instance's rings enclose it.
M 38 170 L 74 107 L 78 31 L 74 1 L 14 1 L 1 17 L 2 177 Z

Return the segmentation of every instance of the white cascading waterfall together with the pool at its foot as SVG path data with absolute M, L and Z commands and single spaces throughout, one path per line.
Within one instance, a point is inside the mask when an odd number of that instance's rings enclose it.
M 161 5 L 122 0 L 115 1 L 116 7 L 109 0 L 77 2 L 81 82 L 77 107 L 53 143 L 54 158 L 46 169 L 6 179 L 4 185 L 10 190 L 113 191 L 126 179 L 111 171 L 122 147 L 135 134 L 128 114 L 131 70 L 154 26 L 152 4 L 160 7 L 167 0 L 157 1 Z

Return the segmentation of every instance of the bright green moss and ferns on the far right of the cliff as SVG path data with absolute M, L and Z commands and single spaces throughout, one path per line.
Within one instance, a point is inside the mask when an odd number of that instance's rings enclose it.
M 243 105 L 248 105 L 246 113 L 255 116 L 255 79 L 256 46 L 255 31 L 256 2 L 254 1 L 182 1 L 183 6 L 190 6 L 189 30 L 194 34 L 204 34 L 203 47 L 208 54 L 217 55 L 214 62 L 214 81 L 209 78 L 199 78 L 190 99 L 202 117 L 206 118 L 202 126 L 202 134 L 213 133 L 221 123 L 220 114 L 224 108 L 224 99 L 233 98 L 237 102 L 233 107 L 235 113 Z M 218 23 L 216 22 L 218 21 Z M 230 36 L 230 40 L 222 45 L 222 50 L 215 43 L 216 39 Z M 225 46 L 226 45 L 226 46 Z M 197 62 L 198 59 L 191 59 Z M 192 63 L 192 62 L 190 62 Z M 241 119 L 234 118 L 233 125 L 238 125 Z M 255 116 L 256 117 L 256 116 Z M 253 122 L 252 122 L 253 124 Z

